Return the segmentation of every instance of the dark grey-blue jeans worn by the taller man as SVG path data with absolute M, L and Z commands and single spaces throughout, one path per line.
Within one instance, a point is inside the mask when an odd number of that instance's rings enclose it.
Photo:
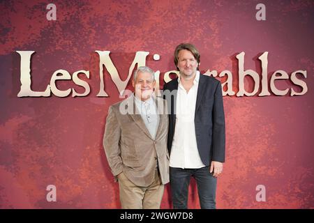
M 170 185 L 174 209 L 188 208 L 188 185 L 193 176 L 202 209 L 216 209 L 217 178 L 209 173 L 209 167 L 181 169 L 170 167 Z

